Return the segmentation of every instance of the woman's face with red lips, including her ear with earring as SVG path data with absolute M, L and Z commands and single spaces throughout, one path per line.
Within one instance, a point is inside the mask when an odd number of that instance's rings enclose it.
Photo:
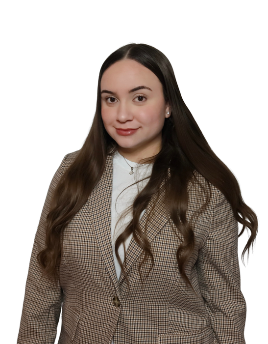
M 100 91 L 104 127 L 119 152 L 134 162 L 157 154 L 171 114 L 157 76 L 137 61 L 123 59 L 103 73 Z

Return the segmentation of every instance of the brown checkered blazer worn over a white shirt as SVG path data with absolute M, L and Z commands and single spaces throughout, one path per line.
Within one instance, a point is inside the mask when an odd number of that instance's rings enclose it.
M 195 223 L 195 251 L 186 286 L 176 260 L 180 238 L 158 201 L 148 220 L 154 266 L 142 285 L 142 249 L 132 238 L 118 281 L 111 246 L 113 157 L 88 201 L 66 227 L 60 278 L 42 277 L 37 261 L 45 247 L 45 221 L 52 192 L 78 152 L 67 154 L 49 186 L 35 236 L 25 288 L 18 344 L 52 344 L 62 308 L 59 344 L 242 344 L 245 301 L 240 290 L 238 226 L 231 206 L 212 186 L 211 201 Z M 202 179 L 198 174 L 198 178 Z M 200 190 L 199 190 L 200 191 Z M 201 205 L 198 188 L 189 188 L 187 216 Z M 151 200 L 140 220 L 144 229 Z M 150 259 L 143 271 L 148 271 Z

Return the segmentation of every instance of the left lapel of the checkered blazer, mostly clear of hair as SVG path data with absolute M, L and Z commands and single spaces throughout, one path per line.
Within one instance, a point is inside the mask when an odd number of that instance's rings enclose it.
M 111 242 L 111 201 L 113 188 L 113 156 L 106 158 L 104 172 L 93 189 L 88 207 L 94 224 L 97 245 L 103 262 L 119 295 L 119 285 L 115 270 Z

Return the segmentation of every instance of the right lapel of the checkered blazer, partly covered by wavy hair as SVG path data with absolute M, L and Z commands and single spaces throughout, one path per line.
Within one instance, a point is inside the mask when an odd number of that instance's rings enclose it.
M 162 185 L 163 185 L 163 182 L 161 186 Z M 155 238 L 155 236 L 161 231 L 161 229 L 163 229 L 163 227 L 169 220 L 169 217 L 166 215 L 165 203 L 163 201 L 163 198 L 164 198 L 164 191 L 161 191 L 159 199 L 155 205 L 154 212 L 149 216 L 150 211 L 153 207 L 153 202 L 156 199 L 156 195 L 152 197 L 139 223 L 141 230 L 145 232 L 146 222 L 147 222 L 146 235 L 147 235 L 149 243 Z M 135 239 L 132 237 L 126 251 L 126 258 L 123 263 L 126 274 L 130 270 L 132 265 L 137 262 L 137 259 L 141 255 L 142 251 L 143 251 L 142 248 L 137 244 Z M 119 284 L 122 283 L 124 278 L 125 277 L 121 272 L 120 278 L 119 278 Z

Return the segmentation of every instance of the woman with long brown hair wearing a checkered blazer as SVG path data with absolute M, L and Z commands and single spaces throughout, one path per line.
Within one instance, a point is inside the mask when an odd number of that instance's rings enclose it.
M 244 343 L 238 226 L 255 213 L 184 104 L 157 49 L 103 63 L 83 147 L 50 187 L 18 343 Z

